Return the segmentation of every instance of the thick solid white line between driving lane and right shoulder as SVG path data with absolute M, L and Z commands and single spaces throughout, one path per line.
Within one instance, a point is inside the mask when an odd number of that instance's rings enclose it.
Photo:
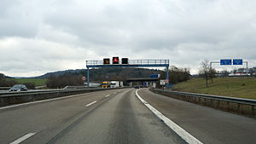
M 189 144 L 202 144 L 201 141 L 197 140 L 193 135 L 190 135 L 186 130 L 183 130 L 180 126 L 172 122 L 171 119 L 167 118 L 165 115 L 163 115 L 161 112 L 156 110 L 154 107 L 148 104 L 147 101 L 144 101 L 143 98 L 137 94 L 137 98 L 143 102 L 143 104 L 150 109 L 158 118 L 164 121 L 164 123 L 169 126 L 173 131 L 177 133 L 181 138 L 183 138 L 184 141 L 188 142 Z

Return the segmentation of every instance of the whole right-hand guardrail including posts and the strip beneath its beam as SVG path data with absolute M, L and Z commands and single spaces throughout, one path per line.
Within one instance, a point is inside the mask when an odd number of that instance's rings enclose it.
M 152 91 L 160 95 L 167 95 L 184 101 L 190 101 L 197 104 L 201 104 L 207 107 L 218 108 L 229 112 L 236 112 L 242 115 L 256 118 L 256 100 L 253 99 L 243 99 L 219 95 L 196 94 L 180 91 L 169 91 L 163 89 L 152 89 Z

